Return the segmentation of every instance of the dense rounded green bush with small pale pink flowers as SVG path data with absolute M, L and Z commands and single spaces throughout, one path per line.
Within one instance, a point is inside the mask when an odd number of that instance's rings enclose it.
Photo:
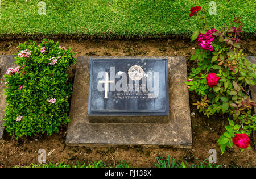
M 69 65 L 76 62 L 71 48 L 59 48 L 53 40 L 19 44 L 15 57 L 18 67 L 4 75 L 6 84 L 6 131 L 19 138 L 57 132 L 68 122 L 68 97 L 72 85 L 67 83 Z

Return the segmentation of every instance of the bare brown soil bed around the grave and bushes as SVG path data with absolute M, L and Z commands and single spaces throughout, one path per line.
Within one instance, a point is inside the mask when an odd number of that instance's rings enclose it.
M 193 53 L 196 43 L 188 40 L 60 40 L 61 46 L 71 47 L 77 56 L 186 56 L 187 59 Z M 0 41 L 0 54 L 10 55 L 17 53 L 16 47 L 24 40 Z M 247 55 L 255 55 L 256 43 L 253 40 L 243 40 L 241 47 Z M 189 66 L 188 61 L 188 70 Z M 69 80 L 73 81 L 75 66 L 69 72 Z M 191 103 L 195 102 L 196 95 L 189 94 Z M 155 156 L 170 155 L 176 160 L 197 163 L 203 161 L 210 154 L 209 149 L 216 149 L 217 164 L 232 164 L 234 166 L 256 166 L 255 143 L 251 138 L 251 151 L 240 152 L 237 147 L 228 149 L 223 155 L 217 140 L 224 132 L 227 116 L 215 115 L 207 118 L 199 114 L 191 105 L 192 122 L 192 149 L 172 147 L 147 148 L 147 147 L 68 147 L 65 145 L 67 126 L 61 126 L 60 132 L 52 136 L 24 137 L 14 140 L 5 134 L 5 143 L 0 143 L 0 168 L 15 165 L 28 166 L 31 163 L 38 164 L 38 150 L 43 148 L 47 152 L 47 163 L 61 163 L 80 161 L 89 164 L 91 161 L 103 159 L 105 163 L 118 163 L 121 159 L 129 161 L 133 167 L 153 167 Z M 49 154 L 49 155 L 48 155 Z

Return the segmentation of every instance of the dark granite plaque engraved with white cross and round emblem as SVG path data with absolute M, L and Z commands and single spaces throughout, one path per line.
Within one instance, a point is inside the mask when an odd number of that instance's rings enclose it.
M 90 59 L 89 116 L 168 116 L 167 59 Z

